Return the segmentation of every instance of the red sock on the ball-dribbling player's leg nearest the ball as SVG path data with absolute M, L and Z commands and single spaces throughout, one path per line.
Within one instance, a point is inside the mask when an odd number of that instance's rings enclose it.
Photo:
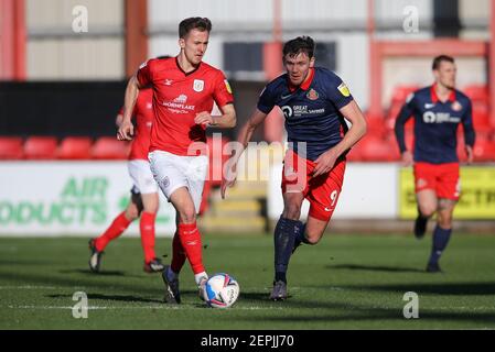
M 205 272 L 202 258 L 201 234 L 200 230 L 197 230 L 196 228 L 196 223 L 180 223 L 177 232 L 182 248 L 184 249 L 185 255 L 187 256 L 193 273 L 200 274 Z M 174 271 L 173 267 L 172 271 Z

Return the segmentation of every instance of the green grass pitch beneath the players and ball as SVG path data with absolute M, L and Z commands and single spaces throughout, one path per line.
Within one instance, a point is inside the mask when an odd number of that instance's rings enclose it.
M 109 244 L 103 273 L 89 273 L 87 239 L 0 239 L 0 329 L 494 329 L 495 237 L 454 233 L 441 261 L 423 272 L 431 238 L 327 234 L 291 258 L 287 301 L 268 299 L 271 235 L 204 235 L 208 272 L 240 284 L 229 309 L 206 308 L 189 264 L 183 304 L 162 302 L 159 274 L 142 272 L 139 239 Z M 158 239 L 169 253 L 170 239 Z M 88 297 L 87 319 L 75 319 L 75 292 Z M 419 318 L 405 319 L 407 292 Z

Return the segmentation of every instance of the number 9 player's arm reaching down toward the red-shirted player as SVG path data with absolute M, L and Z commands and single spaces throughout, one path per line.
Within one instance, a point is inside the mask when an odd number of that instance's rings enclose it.
M 243 152 L 246 150 L 249 141 L 251 140 L 252 133 L 265 121 L 266 118 L 267 113 L 260 111 L 259 109 L 255 109 L 247 122 L 240 129 L 239 135 L 237 136 L 237 147 L 233 151 L 234 155 L 232 155 L 228 167 L 226 168 L 227 175 L 223 175 L 224 177 L 222 177 L 222 198 L 225 198 L 225 191 L 227 190 L 227 187 L 232 187 L 235 184 L 237 177 L 237 162 L 239 161 Z

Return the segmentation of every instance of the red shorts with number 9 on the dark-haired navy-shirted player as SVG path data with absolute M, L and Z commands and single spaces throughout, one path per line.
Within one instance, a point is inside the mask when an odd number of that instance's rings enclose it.
M 282 194 L 303 193 L 310 202 L 309 216 L 330 221 L 344 183 L 345 158 L 338 160 L 327 174 L 313 177 L 316 164 L 288 151 L 283 161 Z

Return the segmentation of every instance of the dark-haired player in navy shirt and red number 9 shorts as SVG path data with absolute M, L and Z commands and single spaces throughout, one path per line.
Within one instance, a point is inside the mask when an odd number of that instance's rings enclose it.
M 247 146 L 256 128 L 278 106 L 286 117 L 289 151 L 282 173 L 283 213 L 275 229 L 275 279 L 270 298 L 283 300 L 287 270 L 301 244 L 316 244 L 336 207 L 344 182 L 346 153 L 366 133 L 365 118 L 348 88 L 333 72 L 314 67 L 314 42 L 297 37 L 283 46 L 287 73 L 269 82 L 257 109 L 239 132 Z M 352 123 L 347 128 L 345 119 Z M 232 169 L 241 151 L 232 160 Z M 226 175 L 222 196 L 235 182 Z M 304 199 L 310 202 L 308 222 L 299 219 Z

